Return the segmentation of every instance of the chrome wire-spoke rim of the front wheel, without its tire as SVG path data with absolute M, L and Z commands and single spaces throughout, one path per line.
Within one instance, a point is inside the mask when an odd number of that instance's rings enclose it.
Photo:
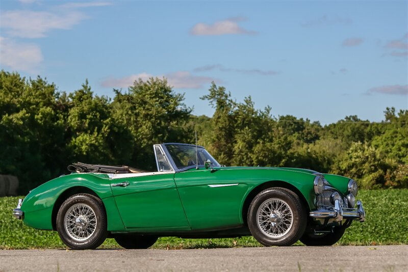
M 267 199 L 258 208 L 257 223 L 266 236 L 271 238 L 283 237 L 293 225 L 292 209 L 282 199 Z

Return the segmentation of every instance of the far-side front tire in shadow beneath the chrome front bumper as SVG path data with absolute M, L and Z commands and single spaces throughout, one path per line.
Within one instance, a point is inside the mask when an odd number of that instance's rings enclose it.
M 315 233 L 313 229 L 305 231 L 300 241 L 306 246 L 332 246 L 343 236 L 346 227 L 334 227 L 332 232 Z

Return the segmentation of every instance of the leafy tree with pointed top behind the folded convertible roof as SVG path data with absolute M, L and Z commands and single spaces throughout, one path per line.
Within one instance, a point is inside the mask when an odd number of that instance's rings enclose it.
M 66 139 L 71 160 L 120 165 L 130 160 L 130 131 L 116 122 L 107 97 L 93 95 L 88 80 L 69 94 L 67 104 Z

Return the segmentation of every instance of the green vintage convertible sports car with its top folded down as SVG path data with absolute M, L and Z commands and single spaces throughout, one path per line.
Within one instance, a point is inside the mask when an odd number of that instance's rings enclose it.
M 353 220 L 364 222 L 354 180 L 311 170 L 224 167 L 205 148 L 154 145 L 157 172 L 87 165 L 50 180 L 19 200 L 25 225 L 56 230 L 71 249 L 115 238 L 126 249 L 160 236 L 253 235 L 265 246 L 336 243 Z

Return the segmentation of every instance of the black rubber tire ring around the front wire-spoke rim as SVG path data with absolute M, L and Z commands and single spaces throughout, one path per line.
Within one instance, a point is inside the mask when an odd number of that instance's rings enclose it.
M 285 201 L 292 210 L 293 223 L 287 234 L 273 238 L 267 236 L 258 225 L 257 212 L 262 203 L 268 199 Z M 259 193 L 251 202 L 248 211 L 248 227 L 251 234 L 264 246 L 290 246 L 303 234 L 305 229 L 305 210 L 299 197 L 284 188 L 270 188 Z

